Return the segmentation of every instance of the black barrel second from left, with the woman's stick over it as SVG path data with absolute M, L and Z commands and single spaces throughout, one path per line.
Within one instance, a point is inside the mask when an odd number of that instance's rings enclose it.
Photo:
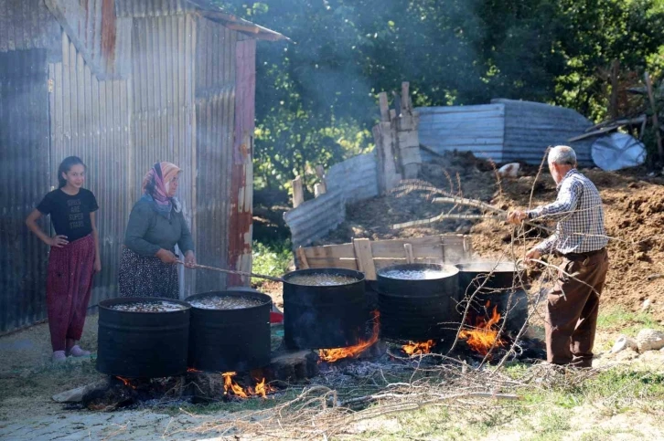
M 199 371 L 250 371 L 270 363 L 272 299 L 256 290 L 229 289 L 187 297 L 188 302 L 209 297 L 240 297 L 261 303 L 238 310 L 191 308 L 189 367 Z

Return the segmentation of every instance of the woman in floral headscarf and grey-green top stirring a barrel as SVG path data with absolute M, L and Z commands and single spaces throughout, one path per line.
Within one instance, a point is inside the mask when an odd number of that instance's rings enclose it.
M 155 163 L 143 179 L 143 196 L 134 205 L 124 235 L 118 285 L 120 297 L 177 299 L 176 244 L 185 265 L 196 264 L 194 241 L 175 194 L 180 169 Z

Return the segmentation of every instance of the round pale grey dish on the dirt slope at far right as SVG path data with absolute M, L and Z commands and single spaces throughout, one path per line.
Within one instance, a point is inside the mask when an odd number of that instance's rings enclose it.
M 607 172 L 635 167 L 646 161 L 646 147 L 633 136 L 615 132 L 603 136 L 591 147 L 594 163 Z

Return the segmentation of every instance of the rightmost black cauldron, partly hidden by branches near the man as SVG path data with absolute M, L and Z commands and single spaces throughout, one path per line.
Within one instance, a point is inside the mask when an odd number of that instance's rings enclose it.
M 519 331 L 528 318 L 528 297 L 521 287 L 522 270 L 511 262 L 474 262 L 459 268 L 459 295 L 470 310 L 489 314 L 497 307 L 507 331 Z M 487 302 L 490 302 L 487 311 Z

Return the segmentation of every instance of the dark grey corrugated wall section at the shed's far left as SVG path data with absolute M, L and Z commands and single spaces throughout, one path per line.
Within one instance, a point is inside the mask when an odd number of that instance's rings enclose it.
M 48 247 L 25 220 L 49 190 L 47 80 L 45 49 L 0 53 L 0 332 L 46 317 Z

